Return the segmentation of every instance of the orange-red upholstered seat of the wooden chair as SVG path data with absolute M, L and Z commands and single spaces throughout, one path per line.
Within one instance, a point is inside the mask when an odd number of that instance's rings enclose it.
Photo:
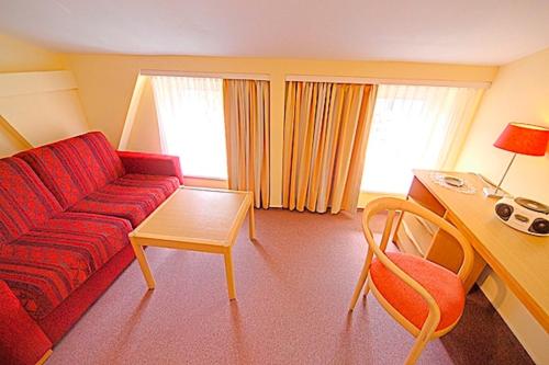
M 466 292 L 458 275 L 411 254 L 388 252 L 386 255 L 433 296 L 440 308 L 437 331 L 448 328 L 461 317 L 466 305 Z M 421 330 L 429 312 L 427 303 L 422 296 L 377 259 L 372 261 L 370 277 L 386 301 Z

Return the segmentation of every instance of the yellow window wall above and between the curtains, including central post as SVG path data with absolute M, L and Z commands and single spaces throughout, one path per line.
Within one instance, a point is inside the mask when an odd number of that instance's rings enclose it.
M 117 146 L 141 70 L 265 75 L 271 81 L 271 205 L 281 205 L 284 79 L 290 75 L 490 82 L 497 67 L 419 62 L 336 61 L 191 56 L 66 55 L 88 122 Z M 150 110 L 149 110 L 150 111 Z M 143 111 L 142 111 L 143 112 Z M 139 123 L 139 122 L 137 122 Z M 157 135 L 138 133 L 132 149 L 155 148 Z

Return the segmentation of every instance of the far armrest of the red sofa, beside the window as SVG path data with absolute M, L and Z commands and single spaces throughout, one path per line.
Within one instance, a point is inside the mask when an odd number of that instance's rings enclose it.
M 116 151 L 127 173 L 176 176 L 183 183 L 179 157 L 144 152 Z

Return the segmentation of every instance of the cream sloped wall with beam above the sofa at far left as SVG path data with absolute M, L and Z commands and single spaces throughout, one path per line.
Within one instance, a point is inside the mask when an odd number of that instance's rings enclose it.
M 0 34 L 0 158 L 89 129 L 64 57 Z

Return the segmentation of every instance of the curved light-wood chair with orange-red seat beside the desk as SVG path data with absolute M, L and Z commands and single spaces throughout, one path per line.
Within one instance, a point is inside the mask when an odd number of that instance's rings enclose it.
M 384 210 L 388 217 L 378 246 L 369 221 Z M 463 250 L 463 262 L 457 274 L 423 258 L 385 253 L 396 212 L 422 217 L 456 238 Z M 362 227 L 368 254 L 349 310 L 355 308 L 362 288 L 365 298 L 371 289 L 382 307 L 416 338 L 406 358 L 406 364 L 414 364 L 429 340 L 448 333 L 461 318 L 466 298 L 463 282 L 471 271 L 473 252 L 456 227 L 435 213 L 400 198 L 382 197 L 368 204 Z

